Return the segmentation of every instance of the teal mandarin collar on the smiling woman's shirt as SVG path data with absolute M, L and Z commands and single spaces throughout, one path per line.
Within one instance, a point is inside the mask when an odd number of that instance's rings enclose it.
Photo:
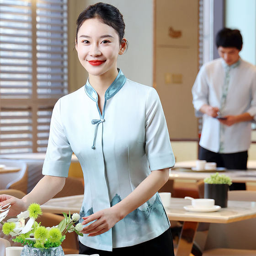
M 114 96 L 124 85 L 127 78 L 125 75 L 123 75 L 123 72 L 121 69 L 118 70 L 118 75 L 116 79 L 112 82 L 112 84 L 107 88 L 107 91 L 105 92 L 105 100 L 110 99 L 112 96 Z M 85 92 L 86 94 L 95 102 L 98 102 L 98 94 L 94 90 L 94 88 L 91 86 L 89 82 L 89 78 L 87 79 L 87 82 L 85 84 Z

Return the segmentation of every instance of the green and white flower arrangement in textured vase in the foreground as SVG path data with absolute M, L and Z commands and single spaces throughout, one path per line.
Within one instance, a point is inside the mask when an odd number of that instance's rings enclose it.
M 8 207 L 10 207 L 10 205 Z M 7 210 L 9 211 L 9 208 Z M 21 256 L 64 256 L 61 243 L 65 239 L 65 234 L 75 231 L 76 234 L 83 236 L 83 234 L 80 233 L 83 229 L 83 225 L 77 223 L 80 219 L 80 215 L 74 213 L 71 216 L 70 212 L 69 215 L 63 213 L 64 219 L 59 225 L 44 227 L 41 223 L 37 223 L 36 221 L 37 217 L 41 214 L 40 205 L 32 203 L 27 208 L 27 211 L 18 214 L 17 218 L 8 219 L 7 222 L 3 224 L 2 231 L 5 235 L 15 236 L 15 238 L 12 239 L 14 242 L 24 245 Z M 27 218 L 29 219 L 25 224 L 25 219 Z

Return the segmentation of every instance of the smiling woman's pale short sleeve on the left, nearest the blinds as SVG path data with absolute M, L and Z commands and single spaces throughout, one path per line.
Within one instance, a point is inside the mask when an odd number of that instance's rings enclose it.
M 59 100 L 53 108 L 43 175 L 67 177 L 72 153 L 61 122 Z

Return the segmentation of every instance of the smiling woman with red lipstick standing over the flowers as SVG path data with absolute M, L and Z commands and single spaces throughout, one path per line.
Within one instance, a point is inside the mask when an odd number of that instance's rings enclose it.
M 21 200 L 1 201 L 16 212 L 47 202 L 63 188 L 74 152 L 85 180 L 80 254 L 170 256 L 170 223 L 156 192 L 175 160 L 155 89 L 117 69 L 127 48 L 124 27 L 112 5 L 97 3 L 80 14 L 75 48 L 89 78 L 53 109 L 43 179 Z

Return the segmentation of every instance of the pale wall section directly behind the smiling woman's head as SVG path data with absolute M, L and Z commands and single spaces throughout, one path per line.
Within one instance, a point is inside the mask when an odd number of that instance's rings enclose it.
M 75 91 L 85 84 L 87 73 L 81 67 L 76 51 L 75 21 L 88 5 L 97 0 L 69 0 L 69 88 Z M 119 56 L 117 66 L 131 80 L 153 85 L 153 0 L 103 0 L 116 6 L 126 24 L 128 50 Z

